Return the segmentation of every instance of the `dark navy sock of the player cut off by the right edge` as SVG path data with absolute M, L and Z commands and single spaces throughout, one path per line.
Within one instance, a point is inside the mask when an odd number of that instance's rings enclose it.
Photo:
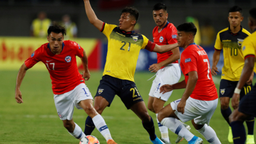
M 230 123 L 234 144 L 244 144 L 246 140 L 246 132 L 244 129 L 243 122 L 234 121 Z

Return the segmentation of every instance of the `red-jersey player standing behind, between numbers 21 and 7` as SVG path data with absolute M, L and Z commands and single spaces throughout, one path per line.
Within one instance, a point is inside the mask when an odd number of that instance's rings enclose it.
M 157 3 L 154 6 L 153 18 L 157 25 L 153 30 L 154 43 L 158 45 L 177 44 L 177 29 L 167 21 L 168 13 L 165 4 Z M 155 113 L 156 117 L 172 94 L 172 91 L 165 94 L 159 93 L 159 87 L 179 82 L 181 73 L 178 59 L 180 59 L 179 47 L 166 53 L 157 53 L 157 63 L 149 67 L 151 72 L 157 72 L 148 99 L 148 109 Z M 157 123 L 162 136 L 161 140 L 166 144 L 170 143 L 168 128 L 161 125 L 158 120 Z M 189 127 L 189 125 L 186 126 Z M 181 139 L 179 137 L 176 141 L 180 142 Z

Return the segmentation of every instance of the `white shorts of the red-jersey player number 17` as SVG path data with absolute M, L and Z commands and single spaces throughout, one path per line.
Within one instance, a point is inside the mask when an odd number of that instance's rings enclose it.
M 74 106 L 77 109 L 82 109 L 78 103 L 86 99 L 93 100 L 91 92 L 84 83 L 77 85 L 75 89 L 69 92 L 54 94 L 54 103 L 60 119 L 71 120 L 74 113 Z

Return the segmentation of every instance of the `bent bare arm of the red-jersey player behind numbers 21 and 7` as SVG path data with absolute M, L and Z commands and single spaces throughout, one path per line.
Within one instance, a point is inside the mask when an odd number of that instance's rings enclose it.
M 159 69 L 161 69 L 163 66 L 167 66 L 170 63 L 173 63 L 174 61 L 177 61 L 178 59 L 180 59 L 180 50 L 179 47 L 176 47 L 175 49 L 171 50 L 172 51 L 172 55 L 167 58 L 166 60 L 159 62 L 159 63 L 154 63 L 153 65 L 149 66 L 149 71 L 151 71 L 151 73 L 156 73 Z

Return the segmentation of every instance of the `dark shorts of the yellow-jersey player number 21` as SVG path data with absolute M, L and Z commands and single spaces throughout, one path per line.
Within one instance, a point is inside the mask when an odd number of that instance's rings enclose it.
M 143 101 L 134 82 L 109 75 L 102 76 L 95 97 L 101 96 L 105 98 L 109 102 L 109 107 L 115 95 L 121 98 L 127 109 L 130 109 L 134 103 Z

